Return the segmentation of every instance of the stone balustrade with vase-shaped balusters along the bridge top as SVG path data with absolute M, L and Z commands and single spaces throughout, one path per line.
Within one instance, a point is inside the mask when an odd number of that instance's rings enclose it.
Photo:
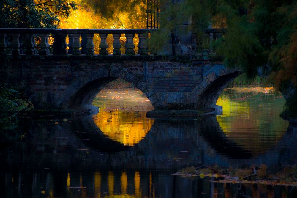
M 99 34 L 99 55 L 110 54 L 111 47 L 107 43 L 108 35 L 112 34 L 112 54 L 122 55 L 121 35 L 126 37 L 125 53 L 127 55 L 153 54 L 149 48 L 149 37 L 159 29 L 14 29 L 0 28 L 0 53 L 6 51 L 12 55 L 95 55 L 94 34 Z M 222 36 L 222 29 L 193 29 L 191 43 L 186 43 L 191 51 L 187 55 L 214 53 L 211 41 Z M 138 51 L 135 51 L 133 39 L 138 37 Z M 202 36 L 201 36 L 202 35 Z M 199 39 L 198 39 L 199 36 Z M 38 39 L 37 39 L 38 37 Z M 49 38 L 53 40 L 49 44 Z M 69 40 L 67 42 L 67 40 Z M 38 42 L 37 42 L 38 41 Z M 137 53 L 137 54 L 136 54 Z

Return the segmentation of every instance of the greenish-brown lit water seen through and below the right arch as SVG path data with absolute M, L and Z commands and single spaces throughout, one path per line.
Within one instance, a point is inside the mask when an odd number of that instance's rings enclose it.
M 265 153 L 284 136 L 289 126 L 279 117 L 285 99 L 272 87 L 233 87 L 225 89 L 217 100 L 223 114 L 217 121 L 225 135 L 250 150 Z

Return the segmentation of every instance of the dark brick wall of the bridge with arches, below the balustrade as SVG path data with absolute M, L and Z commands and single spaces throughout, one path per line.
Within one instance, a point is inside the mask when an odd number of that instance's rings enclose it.
M 214 106 L 222 89 L 239 75 L 217 60 L 160 56 L 19 58 L 7 62 L 8 75 L 2 79 L 23 90 L 35 108 L 43 109 L 90 109 L 100 89 L 117 78 L 140 89 L 155 110 L 199 109 Z

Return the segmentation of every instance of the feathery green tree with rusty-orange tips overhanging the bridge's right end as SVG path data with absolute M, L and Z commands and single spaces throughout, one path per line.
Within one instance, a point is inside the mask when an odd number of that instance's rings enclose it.
M 287 109 L 297 112 L 297 2 L 294 0 L 163 0 L 161 35 L 178 28 L 225 28 L 213 43 L 228 67 L 241 68 L 250 78 L 264 68 L 268 82 L 281 91 Z M 190 21 L 187 28 L 184 21 Z

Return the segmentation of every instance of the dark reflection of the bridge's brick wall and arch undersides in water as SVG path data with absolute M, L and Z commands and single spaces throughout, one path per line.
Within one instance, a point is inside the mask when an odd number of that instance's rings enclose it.
M 155 120 L 150 132 L 134 146 L 108 138 L 91 117 L 58 125 L 53 122 L 34 121 L 29 128 L 18 129 L 25 132 L 18 135 L 21 139 L 11 140 L 2 149 L 1 167 L 176 170 L 217 163 L 221 166 L 267 164 L 273 169 L 282 163 L 296 163 L 294 141 L 297 136 L 293 122 L 276 145 L 258 155 L 229 139 L 216 117 L 192 121 Z M 13 159 L 10 151 L 15 153 Z

